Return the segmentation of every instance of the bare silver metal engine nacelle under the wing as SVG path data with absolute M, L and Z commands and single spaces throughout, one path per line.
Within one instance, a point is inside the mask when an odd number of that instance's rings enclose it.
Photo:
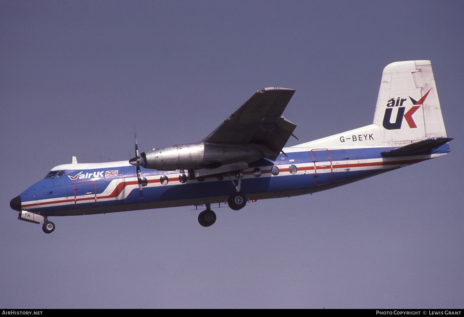
M 217 168 L 235 162 L 251 163 L 264 154 L 247 144 L 212 144 L 206 142 L 167 146 L 142 152 L 142 166 L 159 171 Z

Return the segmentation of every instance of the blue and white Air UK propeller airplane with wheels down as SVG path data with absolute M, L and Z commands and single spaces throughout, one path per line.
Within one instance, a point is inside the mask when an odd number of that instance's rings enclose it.
M 77 216 L 205 206 L 198 222 L 216 222 L 212 204 L 328 190 L 450 152 L 432 65 L 395 62 L 383 70 L 371 125 L 284 147 L 296 125 L 282 114 L 293 89 L 258 90 L 198 143 L 154 148 L 129 161 L 58 165 L 14 197 L 18 219 L 43 223 Z

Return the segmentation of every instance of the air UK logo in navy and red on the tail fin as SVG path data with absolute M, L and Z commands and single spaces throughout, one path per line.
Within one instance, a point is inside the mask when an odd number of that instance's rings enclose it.
M 406 119 L 406 122 L 410 128 L 416 128 L 416 122 L 414 122 L 414 119 L 412 119 L 412 114 L 414 114 L 417 109 L 420 108 L 420 106 L 424 103 L 425 98 L 427 98 L 427 95 L 429 94 L 430 90 L 427 91 L 427 93 L 419 99 L 419 101 L 415 101 L 411 97 L 411 102 L 414 106 L 412 106 L 405 114 L 405 108 L 403 107 L 403 102 L 405 102 L 407 99 L 406 98 L 392 98 L 387 102 L 387 109 L 385 109 L 385 115 L 383 116 L 383 127 L 386 128 L 387 130 L 396 130 L 396 129 L 401 129 L 401 123 L 403 123 L 403 117 Z M 390 122 L 390 119 L 392 117 L 392 111 L 393 107 L 398 107 L 398 113 L 396 114 L 396 120 L 394 123 Z

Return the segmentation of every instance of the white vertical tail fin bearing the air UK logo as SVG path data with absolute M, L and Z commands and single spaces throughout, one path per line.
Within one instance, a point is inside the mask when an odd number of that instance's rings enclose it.
M 430 61 L 395 62 L 385 67 L 374 124 L 384 130 L 383 141 L 391 145 L 446 138 Z

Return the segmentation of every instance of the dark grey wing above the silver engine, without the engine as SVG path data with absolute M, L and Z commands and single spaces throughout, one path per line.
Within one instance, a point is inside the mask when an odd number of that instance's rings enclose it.
M 296 128 L 282 116 L 294 93 L 287 88 L 258 90 L 204 141 L 256 145 L 266 158 L 275 160 Z

